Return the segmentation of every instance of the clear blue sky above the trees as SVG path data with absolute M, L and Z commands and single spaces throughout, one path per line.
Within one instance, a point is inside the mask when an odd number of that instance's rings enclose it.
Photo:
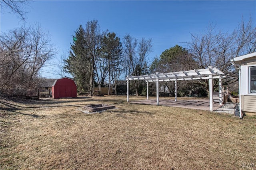
M 242 20 L 251 15 L 256 24 L 256 1 L 30 1 L 26 26 L 38 23 L 51 35 L 59 54 L 70 49 L 72 35 L 79 25 L 85 27 L 98 20 L 101 30 L 115 32 L 122 40 L 126 34 L 141 40 L 152 39 L 152 61 L 164 50 L 178 44 L 186 47 L 190 34 L 200 34 L 209 23 L 216 30 L 232 32 Z M 24 24 L 16 15 L 1 13 L 1 32 Z M 54 67 L 44 68 L 44 77 L 59 78 Z

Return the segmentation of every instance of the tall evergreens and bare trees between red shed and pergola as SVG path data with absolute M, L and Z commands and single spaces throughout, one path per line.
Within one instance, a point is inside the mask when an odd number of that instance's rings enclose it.
M 122 75 L 141 75 L 148 73 L 147 57 L 152 51 L 152 40 L 138 41 L 129 34 L 123 42 L 114 32 L 101 31 L 97 20 L 82 25 L 73 36 L 69 56 L 64 69 L 76 81 L 79 92 L 89 92 L 98 85 L 114 89 L 117 95 L 118 80 Z M 97 83 L 96 83 L 97 82 Z M 139 95 L 140 82 L 135 82 Z

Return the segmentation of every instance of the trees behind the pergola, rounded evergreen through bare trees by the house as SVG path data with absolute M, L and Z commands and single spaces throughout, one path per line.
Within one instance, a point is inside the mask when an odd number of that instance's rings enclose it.
M 238 28 L 233 32 L 216 30 L 211 24 L 200 34 L 191 34 L 191 41 L 186 42 L 186 49 L 176 45 L 166 49 L 160 57 L 156 57 L 150 66 L 151 72 L 172 72 L 193 69 L 205 69 L 213 66 L 227 76 L 222 86 L 238 81 L 238 70 L 234 69 L 230 59 L 256 51 L 256 28 L 250 18 L 245 22 L 242 18 Z M 218 90 L 219 80 L 213 80 L 213 89 Z M 162 85 L 174 95 L 174 82 Z M 209 93 L 209 82 L 205 80 L 182 81 L 178 83 L 178 91 L 198 90 Z M 237 89 L 238 90 L 238 89 Z

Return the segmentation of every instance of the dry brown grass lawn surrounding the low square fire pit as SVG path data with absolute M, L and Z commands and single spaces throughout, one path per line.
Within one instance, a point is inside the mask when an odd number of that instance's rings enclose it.
M 79 110 L 96 103 L 117 108 Z M 120 96 L 1 99 L 1 169 L 246 169 L 243 163 L 256 164 L 255 150 L 255 116 L 129 104 Z

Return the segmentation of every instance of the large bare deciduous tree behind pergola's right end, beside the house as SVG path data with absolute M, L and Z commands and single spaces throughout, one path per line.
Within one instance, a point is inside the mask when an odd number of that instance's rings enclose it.
M 223 71 L 227 77 L 222 85 L 238 81 L 237 71 L 230 59 L 256 51 L 256 29 L 250 18 L 247 23 L 242 18 L 241 24 L 232 33 L 214 32 L 210 27 L 201 35 L 191 34 L 192 41 L 188 42 L 188 50 L 199 65 L 200 69 L 212 65 Z M 207 80 L 198 81 L 208 91 Z M 218 88 L 218 80 L 214 79 L 213 88 Z

